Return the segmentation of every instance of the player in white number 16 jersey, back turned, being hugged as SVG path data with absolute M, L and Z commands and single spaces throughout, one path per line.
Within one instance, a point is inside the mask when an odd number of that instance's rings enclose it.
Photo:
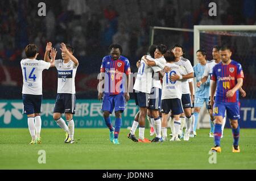
M 164 73 L 163 76 L 163 93 L 162 93 L 162 133 L 163 140 L 167 140 L 167 118 L 171 111 L 172 116 L 174 116 L 174 128 L 172 128 L 172 138 L 170 141 L 180 141 L 179 131 L 180 131 L 180 114 L 183 113 L 183 108 L 181 104 L 181 80 L 170 81 L 170 76 L 172 74 L 184 75 L 187 72 L 185 68 L 180 65 L 175 64 L 174 53 L 167 51 L 164 54 L 164 58 L 167 61 L 166 66 L 170 68 L 170 71 Z

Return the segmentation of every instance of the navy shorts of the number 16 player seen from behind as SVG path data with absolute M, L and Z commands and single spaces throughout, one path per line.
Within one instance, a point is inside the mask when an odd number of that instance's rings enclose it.
M 172 115 L 179 115 L 183 113 L 183 108 L 181 106 L 181 100 L 175 99 L 163 99 L 161 104 L 161 112 L 168 114 L 172 111 Z

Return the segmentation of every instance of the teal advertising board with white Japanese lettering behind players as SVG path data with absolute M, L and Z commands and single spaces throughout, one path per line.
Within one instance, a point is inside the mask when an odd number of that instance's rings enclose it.
M 42 127 L 58 128 L 52 118 L 55 100 L 43 100 L 41 109 Z M 101 102 L 94 99 L 76 100 L 76 114 L 74 121 L 76 128 L 106 128 L 102 117 Z M 27 128 L 27 116 L 23 115 L 22 100 L 0 100 L 0 127 Z M 129 100 L 122 115 L 122 127 L 130 127 L 138 111 L 134 100 Z M 115 122 L 114 111 L 110 116 Z M 64 115 L 63 115 L 64 118 Z

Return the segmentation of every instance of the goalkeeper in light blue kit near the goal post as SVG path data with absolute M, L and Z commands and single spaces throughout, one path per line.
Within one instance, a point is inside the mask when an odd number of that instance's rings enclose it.
M 200 82 L 201 78 L 204 77 L 204 71 L 205 71 L 205 65 L 207 65 L 206 60 L 206 52 L 203 49 L 199 49 L 196 51 L 196 58 L 199 64 L 196 64 L 194 69 L 194 76 L 196 78 L 196 82 Z M 203 107 L 203 104 L 205 103 L 205 106 L 208 110 L 208 103 L 209 103 L 209 89 L 210 89 L 210 78 L 207 79 L 206 82 L 201 84 L 200 87 L 197 87 L 196 94 L 195 94 L 195 124 L 193 125 L 193 133 L 196 135 L 196 127 L 197 127 L 197 121 L 199 119 L 199 112 L 201 110 L 201 107 Z

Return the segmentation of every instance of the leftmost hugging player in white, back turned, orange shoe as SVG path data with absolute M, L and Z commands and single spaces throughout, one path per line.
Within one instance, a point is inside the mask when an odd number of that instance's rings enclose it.
M 156 47 L 157 47 L 157 45 L 150 45 L 150 47 L 148 48 L 148 52 L 149 52 L 148 58 L 151 58 L 152 60 L 154 59 Z M 141 65 L 142 65 L 142 67 L 141 67 Z M 141 60 L 139 60 L 137 62 L 137 68 L 138 68 L 138 74 L 137 74 L 137 77 L 135 80 L 134 90 L 137 90 L 138 92 L 135 91 L 135 103 L 137 106 L 141 107 L 141 109 L 143 109 L 143 111 L 146 111 L 146 112 L 143 112 L 143 115 L 144 115 L 145 113 L 147 113 L 148 94 L 150 94 L 151 87 L 152 87 L 153 69 L 150 66 L 146 65 L 144 60 L 142 60 L 142 58 L 141 58 Z M 140 93 L 139 93 L 139 91 L 140 91 Z M 141 97 L 142 97 L 142 99 L 140 99 Z M 141 117 L 141 120 L 142 121 L 141 121 L 141 124 L 139 127 L 139 129 L 141 131 L 139 131 L 139 133 L 141 133 L 140 137 L 142 139 L 138 140 L 135 137 L 135 131 L 139 125 L 139 111 L 134 117 L 133 125 L 131 126 L 131 130 L 128 133 L 127 137 L 130 138 L 131 140 L 133 140 L 134 142 L 138 142 L 138 141 L 151 142 L 147 138 L 143 139 L 144 136 L 142 136 L 142 134 L 144 135 L 143 129 L 145 127 L 145 123 L 144 123 L 144 119 L 142 119 L 142 117 Z M 150 123 L 151 123 L 150 118 L 148 119 L 148 121 L 150 121 Z M 155 121 L 154 121 L 154 123 L 155 123 Z M 152 126 L 154 125 L 153 123 L 151 123 L 151 124 L 152 124 Z

